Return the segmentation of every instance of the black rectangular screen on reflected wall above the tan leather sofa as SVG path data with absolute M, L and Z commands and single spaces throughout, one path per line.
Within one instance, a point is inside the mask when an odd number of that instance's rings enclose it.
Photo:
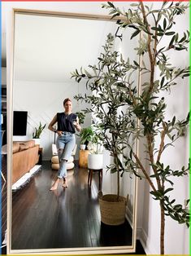
M 27 135 L 27 111 L 13 112 L 13 135 L 24 136 Z

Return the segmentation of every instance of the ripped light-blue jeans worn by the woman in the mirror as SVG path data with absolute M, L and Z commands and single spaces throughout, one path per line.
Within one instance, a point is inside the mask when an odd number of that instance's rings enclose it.
M 71 132 L 63 131 L 56 139 L 56 147 L 59 156 L 59 179 L 67 177 L 67 160 L 72 156 L 72 150 L 76 144 L 76 137 Z

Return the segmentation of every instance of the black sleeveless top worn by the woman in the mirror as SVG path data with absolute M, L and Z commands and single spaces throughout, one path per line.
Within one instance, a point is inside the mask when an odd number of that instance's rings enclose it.
M 71 113 L 70 115 L 67 115 L 65 113 L 57 113 L 57 130 L 69 131 L 72 132 L 72 134 L 75 134 L 75 127 L 73 125 L 73 121 L 76 121 L 76 118 L 76 114 L 73 113 Z

